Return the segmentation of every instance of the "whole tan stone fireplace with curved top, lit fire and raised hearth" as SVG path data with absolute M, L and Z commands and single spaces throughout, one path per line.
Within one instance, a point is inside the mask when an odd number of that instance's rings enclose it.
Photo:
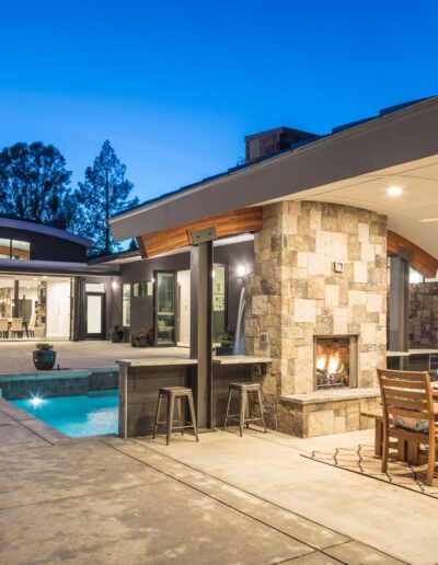
M 269 427 L 309 437 L 371 425 L 360 412 L 378 405 L 376 369 L 385 366 L 387 234 L 385 217 L 360 208 L 264 207 L 245 345 L 273 359 L 263 377 Z M 318 349 L 335 349 L 334 371 L 328 355 L 318 372 Z

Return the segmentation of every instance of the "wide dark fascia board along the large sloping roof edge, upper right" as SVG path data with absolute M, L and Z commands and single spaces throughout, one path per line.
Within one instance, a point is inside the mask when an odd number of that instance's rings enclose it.
M 116 240 L 284 198 L 438 152 L 438 97 L 292 147 L 110 220 Z

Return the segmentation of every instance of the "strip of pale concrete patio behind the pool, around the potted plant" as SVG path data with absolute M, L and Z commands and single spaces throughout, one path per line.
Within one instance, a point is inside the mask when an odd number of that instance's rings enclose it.
M 115 367 L 117 359 L 188 357 L 186 347 L 131 347 L 111 342 L 50 342 L 56 349 L 56 364 L 61 369 Z M 0 342 L 0 374 L 35 372 L 32 353 L 35 342 Z

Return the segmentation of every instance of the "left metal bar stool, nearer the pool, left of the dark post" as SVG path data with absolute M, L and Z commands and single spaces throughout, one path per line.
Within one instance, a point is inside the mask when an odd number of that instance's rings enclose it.
M 160 418 L 160 408 L 162 399 L 166 399 L 168 401 L 168 412 L 165 422 L 159 422 Z M 191 411 L 192 422 L 187 423 L 184 419 L 184 405 L 183 401 L 187 399 L 188 407 Z M 175 403 L 177 404 L 178 410 L 178 426 L 173 426 L 173 412 L 175 407 Z M 181 435 L 184 435 L 184 429 L 193 428 L 196 437 L 196 441 L 199 441 L 198 438 L 198 428 L 196 425 L 196 416 L 195 416 L 195 406 L 193 404 L 193 394 L 192 390 L 185 387 L 163 387 L 159 390 L 158 393 L 158 403 L 157 403 L 157 416 L 155 416 L 155 425 L 153 427 L 153 439 L 155 439 L 157 428 L 161 426 L 165 428 L 165 443 L 169 446 L 169 441 L 171 439 L 172 429 L 181 429 Z

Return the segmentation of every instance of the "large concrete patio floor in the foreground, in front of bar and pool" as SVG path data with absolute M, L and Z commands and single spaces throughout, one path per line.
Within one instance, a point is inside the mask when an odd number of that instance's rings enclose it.
M 438 501 L 250 430 L 66 439 L 0 402 L 0 563 L 433 564 Z

